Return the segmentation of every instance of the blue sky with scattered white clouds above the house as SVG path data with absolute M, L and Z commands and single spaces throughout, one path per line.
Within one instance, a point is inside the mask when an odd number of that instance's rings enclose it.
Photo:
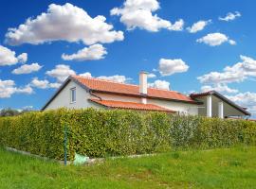
M 40 110 L 68 75 L 184 94 L 256 116 L 254 0 L 2 0 L 0 109 Z

